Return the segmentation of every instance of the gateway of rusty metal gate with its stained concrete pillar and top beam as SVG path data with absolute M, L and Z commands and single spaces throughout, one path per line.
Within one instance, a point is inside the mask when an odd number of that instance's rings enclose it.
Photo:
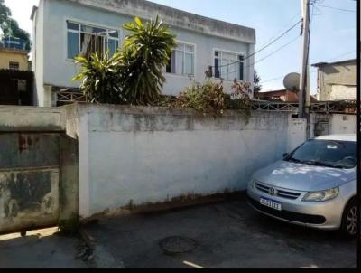
M 79 220 L 78 143 L 61 108 L 0 107 L 0 233 Z

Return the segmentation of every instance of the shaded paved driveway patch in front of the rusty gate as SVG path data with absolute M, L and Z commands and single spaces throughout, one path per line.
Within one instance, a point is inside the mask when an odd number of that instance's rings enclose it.
M 57 235 L 58 229 L 0 236 L 0 268 L 86 268 L 77 259 L 80 241 Z

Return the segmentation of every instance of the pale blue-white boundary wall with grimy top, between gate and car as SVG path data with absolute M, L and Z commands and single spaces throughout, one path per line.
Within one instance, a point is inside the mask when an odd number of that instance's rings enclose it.
M 191 110 L 78 105 L 83 218 L 128 204 L 243 191 L 253 172 L 287 152 L 288 114 L 236 111 L 223 118 Z M 69 132 L 71 135 L 71 133 Z

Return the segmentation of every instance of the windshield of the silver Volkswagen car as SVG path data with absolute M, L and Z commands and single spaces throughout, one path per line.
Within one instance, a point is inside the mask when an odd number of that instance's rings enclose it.
M 284 161 L 352 169 L 357 165 L 356 142 L 313 139 L 293 151 Z

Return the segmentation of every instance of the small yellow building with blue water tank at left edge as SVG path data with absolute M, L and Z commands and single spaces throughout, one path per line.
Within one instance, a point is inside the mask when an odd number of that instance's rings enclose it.
M 0 42 L 0 69 L 29 71 L 28 53 L 24 42 L 4 38 Z

